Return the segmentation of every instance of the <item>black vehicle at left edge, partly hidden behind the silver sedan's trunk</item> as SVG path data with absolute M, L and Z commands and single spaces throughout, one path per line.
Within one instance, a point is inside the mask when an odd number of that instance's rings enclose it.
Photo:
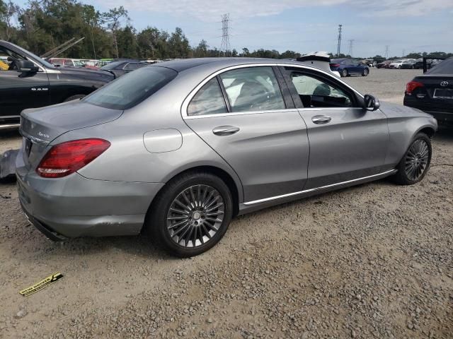
M 0 129 L 18 126 L 23 109 L 75 100 L 93 92 L 115 76 L 105 71 L 55 67 L 25 49 L 0 40 Z

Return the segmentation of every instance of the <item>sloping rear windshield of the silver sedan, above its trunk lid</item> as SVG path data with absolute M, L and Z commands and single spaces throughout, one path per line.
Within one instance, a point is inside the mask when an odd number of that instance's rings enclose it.
M 96 90 L 83 101 L 105 108 L 130 109 L 163 88 L 177 75 L 178 72 L 165 67 L 143 67 Z

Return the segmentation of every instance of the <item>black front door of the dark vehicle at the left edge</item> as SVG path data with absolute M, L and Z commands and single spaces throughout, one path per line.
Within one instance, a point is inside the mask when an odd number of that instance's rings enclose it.
M 0 57 L 7 58 L 4 63 L 8 66 L 0 67 L 0 119 L 18 118 L 23 109 L 49 105 L 47 73 L 18 72 L 16 61 L 25 57 L 3 46 Z

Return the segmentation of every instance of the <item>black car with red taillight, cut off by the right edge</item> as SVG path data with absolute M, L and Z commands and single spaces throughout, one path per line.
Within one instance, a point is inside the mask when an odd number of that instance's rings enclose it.
M 453 125 L 453 58 L 445 59 L 406 85 L 404 105 Z

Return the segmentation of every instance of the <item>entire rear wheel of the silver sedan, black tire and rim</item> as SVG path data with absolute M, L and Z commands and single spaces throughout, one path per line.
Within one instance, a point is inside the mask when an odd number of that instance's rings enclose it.
M 159 192 L 145 227 L 161 249 L 188 258 L 217 244 L 232 217 L 233 200 L 224 181 L 209 172 L 188 172 L 172 179 Z

